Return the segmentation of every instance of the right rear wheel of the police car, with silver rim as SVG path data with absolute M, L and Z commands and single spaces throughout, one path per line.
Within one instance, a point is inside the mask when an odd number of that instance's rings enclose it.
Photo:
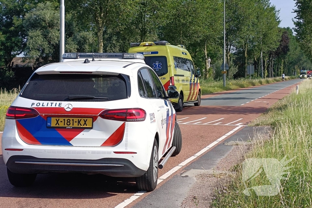
M 154 139 L 153 151 L 149 161 L 149 169 L 141 177 L 135 178 L 136 186 L 141 191 L 153 191 L 158 179 L 158 146 Z

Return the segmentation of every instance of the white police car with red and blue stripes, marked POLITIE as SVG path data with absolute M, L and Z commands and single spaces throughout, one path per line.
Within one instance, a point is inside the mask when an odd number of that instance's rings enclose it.
M 9 181 L 30 186 L 37 173 L 100 173 L 154 190 L 158 168 L 182 147 L 168 101 L 178 98 L 175 89 L 165 91 L 142 54 L 66 53 L 40 67 L 7 110 Z

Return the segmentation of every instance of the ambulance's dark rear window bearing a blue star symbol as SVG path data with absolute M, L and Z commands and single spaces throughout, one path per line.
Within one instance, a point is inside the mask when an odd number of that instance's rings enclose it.
M 159 77 L 168 73 L 166 56 L 145 56 L 145 63 L 149 65 Z

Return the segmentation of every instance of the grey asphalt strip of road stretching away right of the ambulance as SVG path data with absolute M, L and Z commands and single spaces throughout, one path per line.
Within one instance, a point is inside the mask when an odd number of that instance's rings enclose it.
M 203 98 L 201 105 L 203 106 L 240 106 L 250 100 L 260 98 L 266 94 L 282 89 L 289 85 L 296 84 L 302 80 L 288 80 L 270 85 L 262 85 L 247 89 L 237 90 L 226 94 L 220 94 L 216 97 Z

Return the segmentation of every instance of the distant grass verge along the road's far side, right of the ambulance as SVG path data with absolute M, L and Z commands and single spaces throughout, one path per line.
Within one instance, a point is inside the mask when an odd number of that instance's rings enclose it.
M 295 79 L 295 76 L 286 77 L 285 80 Z M 266 78 L 266 79 L 237 79 L 237 80 L 227 80 L 227 86 L 223 87 L 223 80 L 200 80 L 200 86 L 202 89 L 202 94 L 211 94 L 216 92 L 222 92 L 226 90 L 235 90 L 240 88 L 246 88 L 251 86 L 258 86 L 264 84 L 270 84 L 274 82 L 281 81 L 282 78 Z

